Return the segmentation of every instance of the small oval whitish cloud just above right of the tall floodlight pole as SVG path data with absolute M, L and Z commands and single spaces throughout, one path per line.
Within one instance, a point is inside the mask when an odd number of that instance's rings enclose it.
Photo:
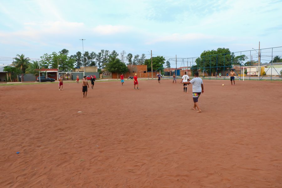
M 132 28 L 124 25 L 98 25 L 97 27 L 93 28 L 93 31 L 96 34 L 111 35 L 117 33 L 127 33 L 132 31 Z

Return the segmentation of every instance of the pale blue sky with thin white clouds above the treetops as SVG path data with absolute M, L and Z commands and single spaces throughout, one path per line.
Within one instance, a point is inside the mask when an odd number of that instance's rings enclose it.
M 1 57 L 70 51 L 196 57 L 282 46 L 282 0 L 0 0 Z

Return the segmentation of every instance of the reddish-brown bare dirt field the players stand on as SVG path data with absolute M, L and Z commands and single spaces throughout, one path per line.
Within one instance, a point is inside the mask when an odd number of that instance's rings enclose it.
M 281 81 L 157 82 L 0 86 L 0 187 L 282 187 Z

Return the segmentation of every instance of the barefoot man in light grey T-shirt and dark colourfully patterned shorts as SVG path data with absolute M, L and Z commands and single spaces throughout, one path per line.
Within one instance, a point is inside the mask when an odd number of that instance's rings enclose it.
M 191 81 L 182 82 L 183 84 L 192 84 L 192 92 L 193 92 L 193 101 L 194 101 L 194 107 L 191 107 L 191 109 L 196 110 L 196 107 L 198 108 L 197 112 L 201 112 L 201 109 L 198 105 L 198 99 L 201 95 L 201 93 L 204 93 L 204 84 L 203 80 L 199 78 L 199 73 L 194 73 L 195 78 L 193 78 Z

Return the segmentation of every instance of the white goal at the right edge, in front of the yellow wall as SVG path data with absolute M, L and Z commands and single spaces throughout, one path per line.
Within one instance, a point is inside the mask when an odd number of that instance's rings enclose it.
M 253 76 L 256 76 L 256 72 L 258 72 L 258 76 L 260 76 L 261 74 L 261 70 L 262 70 L 262 67 L 264 67 L 264 69 L 266 69 L 266 71 L 264 71 L 266 74 L 268 72 L 268 70 L 271 68 L 271 74 L 270 76 L 280 76 L 280 73 L 279 71 L 276 70 L 276 68 L 281 68 L 282 70 L 282 65 L 260 65 L 260 66 L 243 66 L 243 81 L 245 80 L 245 69 L 247 70 L 247 74 L 248 74 L 248 70 L 249 70 L 249 76 L 253 75 Z M 274 68 L 275 72 L 274 73 L 275 75 L 272 75 L 272 69 Z M 246 74 L 246 76 L 247 76 Z M 265 75 L 263 75 L 264 77 Z

